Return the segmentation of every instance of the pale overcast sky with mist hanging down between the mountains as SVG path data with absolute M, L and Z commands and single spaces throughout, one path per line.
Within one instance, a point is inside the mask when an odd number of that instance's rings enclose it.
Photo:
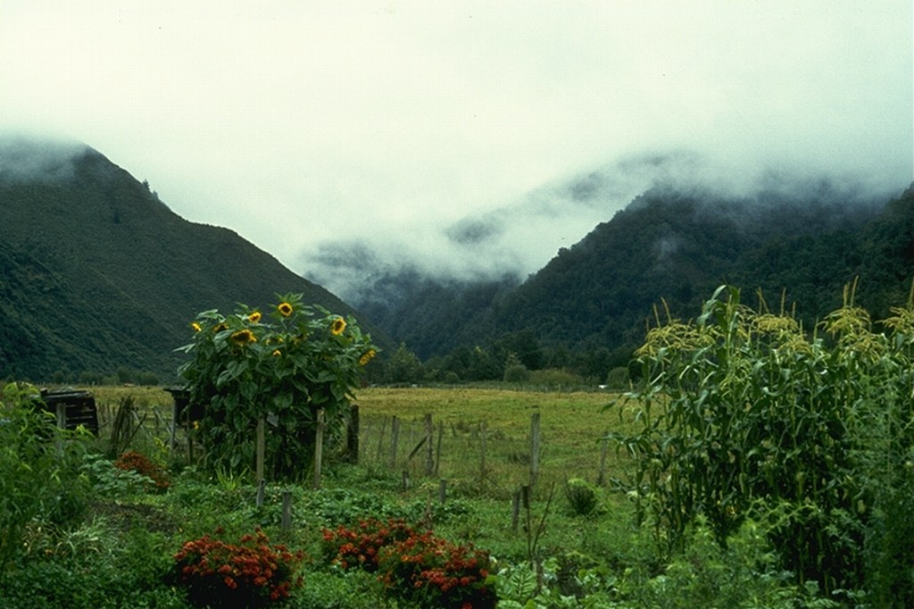
M 898 193 L 912 29 L 910 0 L 0 0 L 0 134 L 349 295 L 406 259 L 533 272 L 658 175 Z

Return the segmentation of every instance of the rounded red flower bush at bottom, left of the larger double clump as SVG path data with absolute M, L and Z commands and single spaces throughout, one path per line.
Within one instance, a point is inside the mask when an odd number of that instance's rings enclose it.
M 200 607 L 260 607 L 289 598 L 293 577 L 303 561 L 301 551 L 270 546 L 260 529 L 228 544 L 204 535 L 187 541 L 175 554 L 175 582 L 186 587 L 187 598 Z

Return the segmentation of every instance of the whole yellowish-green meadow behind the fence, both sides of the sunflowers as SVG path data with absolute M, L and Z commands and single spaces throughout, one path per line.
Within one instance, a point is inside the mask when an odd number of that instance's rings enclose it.
M 167 442 L 172 398 L 156 387 L 91 388 L 99 407 L 102 435 L 118 404 L 130 397 L 146 414 L 147 438 Z M 530 480 L 531 426 L 539 413 L 539 471 L 535 492 L 571 477 L 590 482 L 618 469 L 614 449 L 605 450 L 603 435 L 618 426 L 618 417 L 604 411 L 608 392 L 542 392 L 476 388 L 366 388 L 355 403 L 360 413 L 359 462 L 375 469 L 409 472 L 412 480 L 428 476 L 425 442 L 431 415 L 435 478 L 446 478 L 454 492 L 510 497 Z M 393 417 L 399 420 L 397 460 L 392 453 Z M 183 436 L 177 434 L 178 441 Z M 142 438 L 141 438 L 142 439 Z M 417 446 L 422 445 L 417 449 Z M 409 454 L 415 454 L 408 460 Z M 603 456 L 605 454 L 605 457 Z M 332 456 L 331 456 L 332 458 Z

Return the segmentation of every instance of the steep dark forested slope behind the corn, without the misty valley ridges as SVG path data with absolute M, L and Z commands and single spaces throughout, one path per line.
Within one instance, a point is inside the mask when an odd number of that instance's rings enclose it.
M 775 299 L 787 288 L 813 306 L 824 293 L 807 289 L 797 273 L 812 272 L 817 287 L 840 299 L 840 286 L 860 269 L 826 262 L 850 254 L 848 236 L 876 213 L 871 202 L 850 205 L 827 191 L 794 200 L 654 190 L 560 251 L 505 299 L 496 317 L 509 328 L 536 327 L 547 342 L 616 346 L 637 344 L 661 299 L 674 315 L 694 315 L 721 283 L 749 294 L 761 287 Z M 771 255 L 777 242 L 795 250 L 780 262 Z M 811 260 L 816 248 L 828 253 Z

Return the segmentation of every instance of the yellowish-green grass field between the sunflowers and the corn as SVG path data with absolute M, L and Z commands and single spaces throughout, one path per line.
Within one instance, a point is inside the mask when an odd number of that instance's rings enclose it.
M 441 450 L 438 472 L 456 478 L 495 496 L 504 496 L 525 484 L 530 473 L 532 415 L 539 413 L 540 489 L 568 477 L 595 482 L 600 474 L 601 437 L 617 418 L 602 407 L 610 401 L 606 393 L 543 393 L 484 389 L 370 389 L 359 392 L 362 417 L 362 460 L 367 464 L 390 463 L 380 426 L 396 415 L 404 424 L 400 437 L 407 438 L 408 454 L 425 434 L 424 418 L 431 414 L 434 453 Z M 483 426 L 485 469 L 483 473 Z M 387 425 L 387 439 L 389 439 Z M 405 433 L 404 433 L 405 430 Z M 420 449 L 409 463 L 410 472 L 424 471 Z M 609 452 L 611 466 L 614 452 Z M 481 483 L 481 484 L 480 484 Z M 480 488 L 482 487 L 482 488 Z

